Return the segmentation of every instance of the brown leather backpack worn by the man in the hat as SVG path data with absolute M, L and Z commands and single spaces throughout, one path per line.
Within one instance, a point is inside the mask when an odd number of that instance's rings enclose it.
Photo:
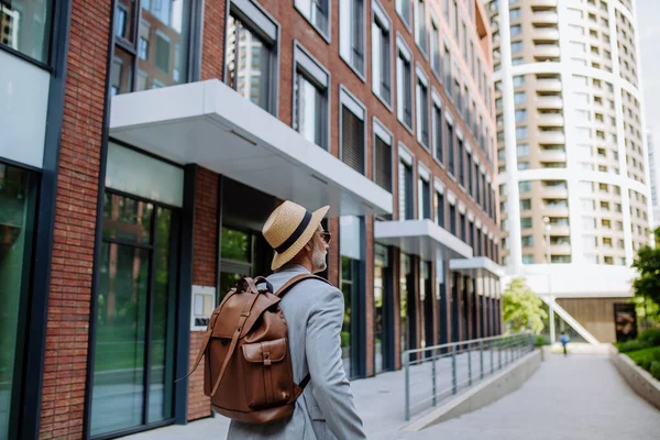
M 286 319 L 278 302 L 297 283 L 316 278 L 294 276 L 275 294 L 263 276 L 239 280 L 207 328 L 190 374 L 206 355 L 204 393 L 212 408 L 233 420 L 268 424 L 288 419 L 296 399 L 309 382 L 309 374 L 294 383 Z M 265 289 L 257 289 L 264 283 Z

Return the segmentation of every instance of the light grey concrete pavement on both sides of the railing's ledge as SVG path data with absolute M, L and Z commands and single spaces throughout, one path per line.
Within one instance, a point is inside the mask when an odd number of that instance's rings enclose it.
M 418 370 L 417 375 L 426 376 L 426 372 Z M 399 431 L 405 425 L 403 384 L 403 372 L 351 384 L 370 439 L 660 438 L 660 411 L 635 394 L 606 355 L 547 354 L 540 370 L 520 389 L 491 406 L 420 432 Z M 223 439 L 227 427 L 227 419 L 216 417 L 128 439 Z

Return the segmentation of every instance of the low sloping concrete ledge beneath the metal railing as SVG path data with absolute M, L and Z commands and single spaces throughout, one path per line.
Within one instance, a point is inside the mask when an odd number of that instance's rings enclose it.
M 408 424 L 403 431 L 420 431 L 442 421 L 472 413 L 518 389 L 541 364 L 542 353 L 537 349 L 519 359 L 506 370 L 485 378 L 468 392 L 457 396 L 438 409 Z

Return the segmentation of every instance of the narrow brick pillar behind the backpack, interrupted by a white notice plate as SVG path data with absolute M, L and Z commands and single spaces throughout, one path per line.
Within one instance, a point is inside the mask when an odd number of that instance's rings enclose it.
M 216 286 L 218 257 L 218 175 L 197 168 L 195 187 L 195 234 L 193 238 L 193 284 Z M 190 332 L 190 367 L 197 358 L 204 331 Z M 188 382 L 188 420 L 211 415 L 211 400 L 204 394 L 204 362 Z

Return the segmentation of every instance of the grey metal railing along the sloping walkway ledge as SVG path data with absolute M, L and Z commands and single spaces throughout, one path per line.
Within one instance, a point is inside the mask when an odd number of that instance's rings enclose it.
M 451 342 L 402 353 L 406 421 L 534 351 L 531 333 Z

